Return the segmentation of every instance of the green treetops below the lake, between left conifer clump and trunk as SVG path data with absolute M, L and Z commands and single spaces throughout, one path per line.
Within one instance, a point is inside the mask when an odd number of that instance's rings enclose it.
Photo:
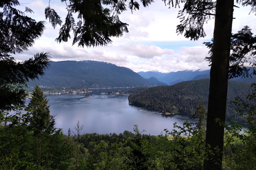
M 80 142 L 85 148 L 80 169 L 202 169 L 204 142 L 195 128 L 185 122 L 183 127 L 165 135 L 141 134 L 138 125 L 134 133 L 119 135 L 84 134 Z M 193 135 L 192 135 L 193 134 Z M 188 137 L 184 137 L 187 135 Z

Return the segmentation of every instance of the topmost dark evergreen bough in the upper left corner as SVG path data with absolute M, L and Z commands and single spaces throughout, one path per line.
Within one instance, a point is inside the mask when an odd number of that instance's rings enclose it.
M 18 10 L 19 1 L 1 1 L 0 7 L 0 58 L 9 57 L 9 54 L 21 53 L 28 50 L 35 40 L 42 36 L 45 29 L 44 21 L 36 22 L 26 16 L 33 12 L 26 7 L 25 12 Z

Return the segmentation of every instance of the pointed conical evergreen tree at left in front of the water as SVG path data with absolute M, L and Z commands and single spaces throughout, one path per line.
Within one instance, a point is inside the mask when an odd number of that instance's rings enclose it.
M 47 106 L 48 100 L 43 96 L 43 91 L 39 86 L 35 87 L 32 98 L 26 108 L 31 117 L 29 117 L 29 129 L 34 131 L 34 135 L 46 132 L 51 134 L 54 130 L 54 116 L 50 115 L 50 106 Z

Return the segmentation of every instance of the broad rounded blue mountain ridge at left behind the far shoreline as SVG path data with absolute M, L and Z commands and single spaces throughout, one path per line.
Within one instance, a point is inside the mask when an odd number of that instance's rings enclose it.
M 114 88 L 165 85 L 155 79 L 150 81 L 126 67 L 97 61 L 52 62 L 39 80 L 29 81 L 28 86 Z

